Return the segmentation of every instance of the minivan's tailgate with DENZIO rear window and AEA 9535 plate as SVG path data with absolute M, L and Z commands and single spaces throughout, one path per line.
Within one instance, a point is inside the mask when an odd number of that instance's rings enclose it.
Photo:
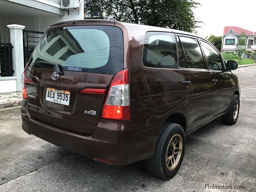
M 56 68 L 48 62 L 57 63 L 63 75 L 56 75 Z M 72 26 L 47 30 L 28 63 L 26 76 L 33 81 L 26 84 L 29 116 L 92 134 L 100 119 L 104 90 L 121 69 L 120 28 Z

